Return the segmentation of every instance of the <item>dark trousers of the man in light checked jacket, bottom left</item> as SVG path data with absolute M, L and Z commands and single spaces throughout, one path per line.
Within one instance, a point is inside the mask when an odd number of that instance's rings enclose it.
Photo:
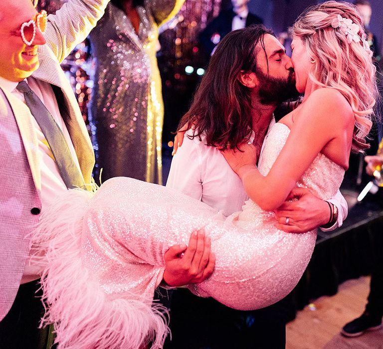
M 0 349 L 43 349 L 48 327 L 38 325 L 44 315 L 38 280 L 20 285 L 9 313 L 0 322 Z

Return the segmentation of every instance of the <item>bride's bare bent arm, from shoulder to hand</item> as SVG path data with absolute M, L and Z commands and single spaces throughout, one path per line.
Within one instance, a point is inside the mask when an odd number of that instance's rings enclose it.
M 233 170 L 241 177 L 249 197 L 265 210 L 279 207 L 298 179 L 304 174 L 322 149 L 336 138 L 351 145 L 350 122 L 354 115 L 350 105 L 337 91 L 322 88 L 314 91 L 304 102 L 299 117 L 270 172 L 263 176 L 255 165 L 238 160 L 241 153 L 224 154 Z M 344 142 L 343 144 L 347 144 Z M 246 145 L 244 150 L 246 153 Z M 338 152 L 348 152 L 339 149 Z

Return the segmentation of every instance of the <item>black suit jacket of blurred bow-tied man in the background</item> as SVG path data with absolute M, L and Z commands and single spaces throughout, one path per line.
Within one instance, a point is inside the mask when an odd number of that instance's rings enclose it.
M 211 42 L 211 37 L 217 33 L 220 36 L 220 40 L 222 40 L 223 37 L 231 31 L 231 25 L 235 15 L 232 9 L 221 11 L 199 34 L 199 42 L 209 56 L 215 47 L 215 44 Z M 246 26 L 251 24 L 263 24 L 263 20 L 249 12 L 246 18 Z

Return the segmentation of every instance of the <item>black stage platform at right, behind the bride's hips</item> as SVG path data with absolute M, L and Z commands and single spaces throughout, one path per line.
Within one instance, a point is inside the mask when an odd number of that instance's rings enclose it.
M 349 183 L 341 192 L 349 204 L 349 214 L 342 227 L 318 231 L 317 244 L 311 261 L 299 284 L 292 291 L 291 320 L 297 310 L 320 296 L 337 293 L 342 282 L 369 275 L 383 253 L 383 188 L 357 202 L 364 187 L 351 189 Z

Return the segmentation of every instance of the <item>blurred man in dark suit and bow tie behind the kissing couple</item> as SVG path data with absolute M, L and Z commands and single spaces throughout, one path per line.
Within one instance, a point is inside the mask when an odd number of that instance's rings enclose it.
M 249 12 L 250 0 L 231 0 L 232 8 L 223 10 L 200 33 L 200 44 L 210 56 L 215 46 L 232 30 L 242 29 L 251 24 L 262 24 L 262 18 Z

